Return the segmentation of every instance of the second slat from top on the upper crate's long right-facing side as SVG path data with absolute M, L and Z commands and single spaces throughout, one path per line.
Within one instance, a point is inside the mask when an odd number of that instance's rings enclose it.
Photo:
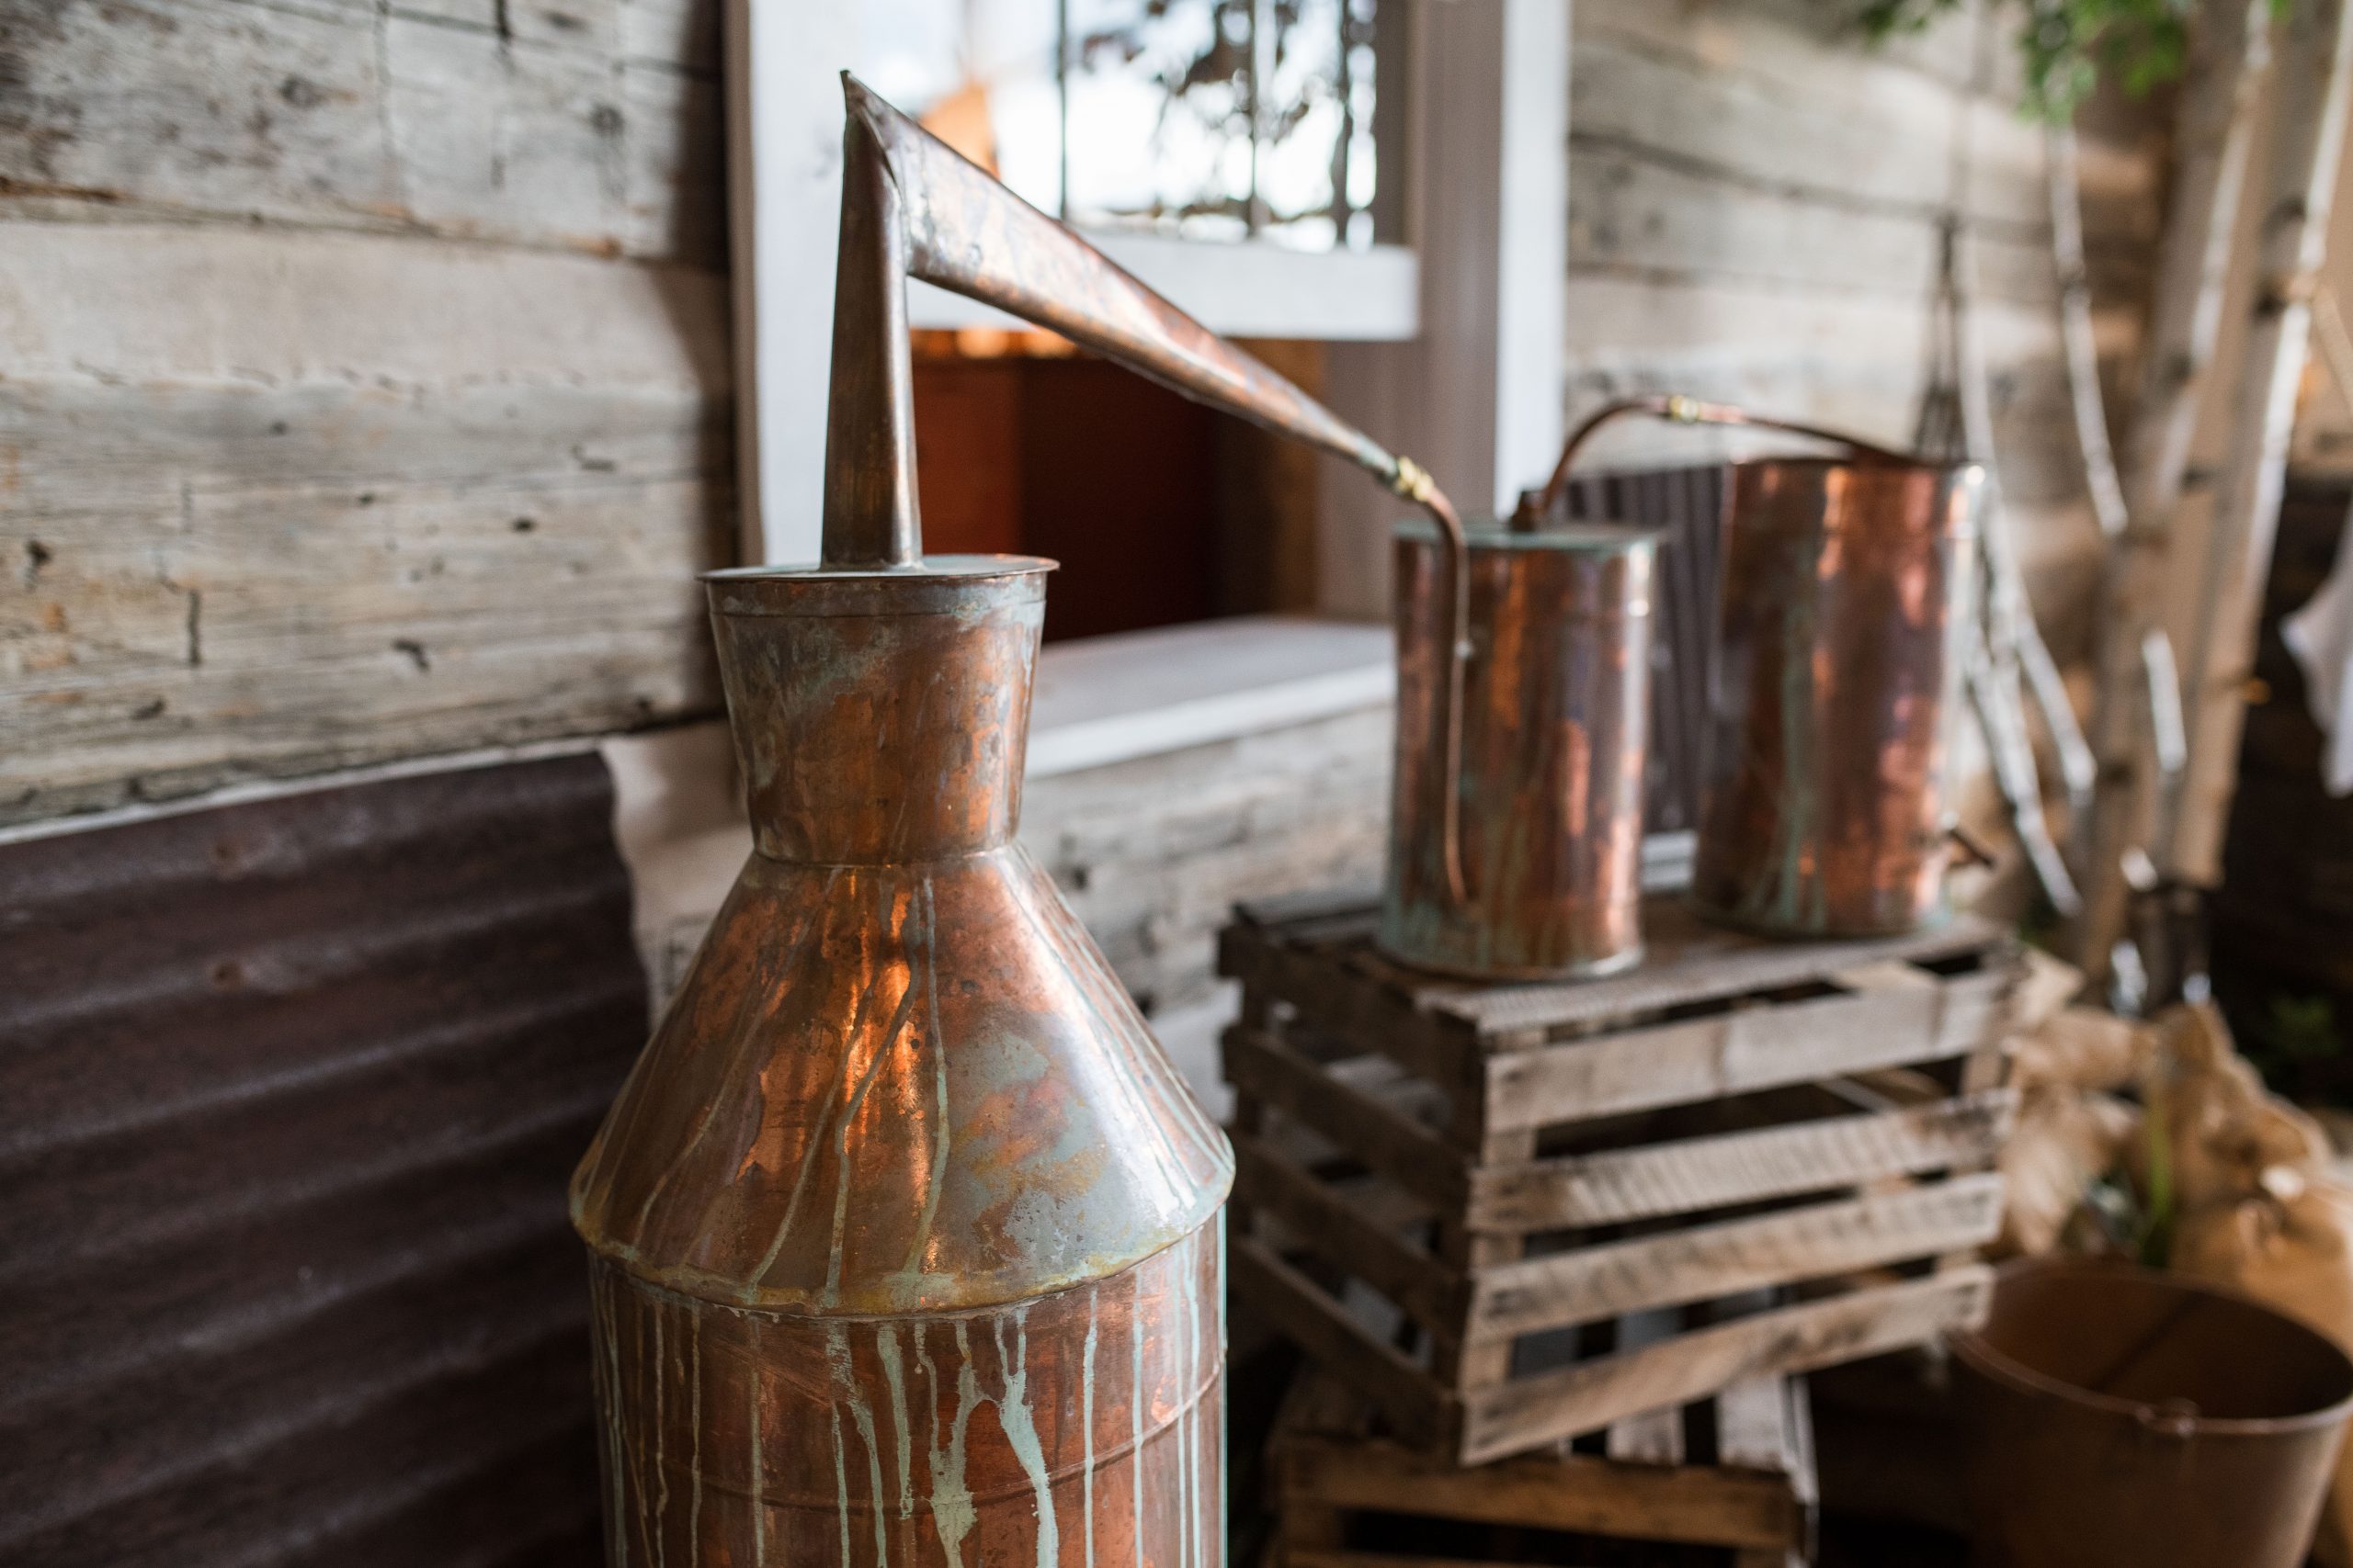
M 1614 1225 L 1967 1166 L 2000 1150 L 2014 1110 L 2017 1095 L 1993 1088 L 1875 1117 L 1482 1168 L 1471 1173 L 1468 1225 Z

